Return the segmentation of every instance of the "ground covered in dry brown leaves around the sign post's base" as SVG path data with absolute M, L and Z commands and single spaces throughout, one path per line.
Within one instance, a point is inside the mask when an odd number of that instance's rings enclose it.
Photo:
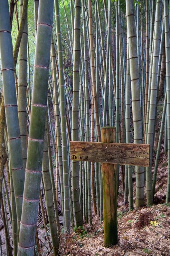
M 87 234 L 73 233 L 70 241 L 61 248 L 62 255 L 69 256 L 121 256 L 121 255 L 170 255 L 170 206 L 165 204 L 144 207 L 132 212 L 118 211 L 118 244 L 104 247 L 103 223 L 94 218 L 94 226 L 84 226 Z M 139 229 L 140 216 L 153 219 Z M 149 220 L 150 221 L 150 220 Z M 82 237 L 81 237 L 82 236 Z

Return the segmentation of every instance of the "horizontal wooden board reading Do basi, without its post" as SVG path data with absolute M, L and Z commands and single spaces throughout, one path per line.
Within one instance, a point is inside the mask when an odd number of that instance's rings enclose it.
M 71 160 L 149 166 L 149 144 L 70 141 Z

